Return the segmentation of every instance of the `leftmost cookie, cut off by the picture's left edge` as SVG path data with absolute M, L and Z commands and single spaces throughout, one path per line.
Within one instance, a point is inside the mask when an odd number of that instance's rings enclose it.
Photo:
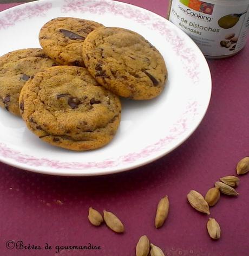
M 15 50 L 0 57 L 0 106 L 21 116 L 19 93 L 25 82 L 37 72 L 56 66 L 42 49 L 30 48 Z

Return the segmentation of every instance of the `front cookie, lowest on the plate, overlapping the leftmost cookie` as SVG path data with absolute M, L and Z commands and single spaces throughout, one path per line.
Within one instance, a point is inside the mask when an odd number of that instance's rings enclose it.
M 35 135 L 77 151 L 106 145 L 121 118 L 119 97 L 100 86 L 86 68 L 74 66 L 37 73 L 23 87 L 19 108 Z

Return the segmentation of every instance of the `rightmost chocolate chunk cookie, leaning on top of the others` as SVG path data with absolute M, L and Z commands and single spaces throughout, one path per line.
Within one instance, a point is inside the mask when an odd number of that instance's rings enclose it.
M 167 69 L 159 51 L 141 35 L 123 28 L 99 28 L 83 43 L 88 71 L 122 97 L 145 100 L 165 87 Z

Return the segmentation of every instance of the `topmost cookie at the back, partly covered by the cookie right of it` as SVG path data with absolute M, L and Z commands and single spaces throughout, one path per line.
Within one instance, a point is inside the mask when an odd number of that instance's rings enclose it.
M 61 65 L 84 67 L 82 44 L 87 35 L 102 24 L 80 18 L 54 18 L 43 25 L 39 41 L 44 52 Z

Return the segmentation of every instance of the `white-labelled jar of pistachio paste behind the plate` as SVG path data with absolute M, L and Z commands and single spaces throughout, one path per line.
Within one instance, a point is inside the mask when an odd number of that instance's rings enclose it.
M 171 0 L 168 19 L 185 31 L 206 57 L 228 57 L 246 44 L 249 0 Z

